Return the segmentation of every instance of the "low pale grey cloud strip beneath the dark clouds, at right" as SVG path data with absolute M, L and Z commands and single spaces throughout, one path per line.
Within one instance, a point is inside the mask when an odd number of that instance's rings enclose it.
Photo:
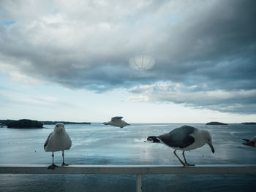
M 163 101 L 185 104 L 221 112 L 255 113 L 256 89 L 237 91 L 198 91 L 197 86 L 184 86 L 178 83 L 157 82 L 154 85 L 138 85 L 129 89 L 135 93 L 132 101 Z

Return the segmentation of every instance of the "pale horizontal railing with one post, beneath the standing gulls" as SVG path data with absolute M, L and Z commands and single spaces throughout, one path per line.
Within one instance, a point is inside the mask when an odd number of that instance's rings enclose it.
M 48 165 L 0 164 L 0 174 L 137 174 L 137 191 L 142 191 L 142 174 L 256 174 L 256 164 L 197 165 L 70 165 L 47 169 Z

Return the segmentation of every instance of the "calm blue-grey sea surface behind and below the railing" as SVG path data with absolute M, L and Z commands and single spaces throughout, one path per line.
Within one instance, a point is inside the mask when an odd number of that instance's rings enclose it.
M 255 125 L 206 126 L 216 152 L 205 145 L 186 153 L 191 164 L 256 164 L 256 147 L 242 145 L 242 138 L 256 135 Z M 67 164 L 180 164 L 169 147 L 143 142 L 150 135 L 170 132 L 184 124 L 133 124 L 124 128 L 66 125 L 72 147 L 65 151 Z M 54 126 L 40 129 L 0 128 L 0 164 L 51 164 L 43 149 Z M 178 152 L 181 155 L 181 152 Z M 61 164 L 61 152 L 55 163 Z M 0 174 L 0 191 L 135 191 L 135 175 Z M 143 175 L 143 191 L 252 191 L 256 175 Z

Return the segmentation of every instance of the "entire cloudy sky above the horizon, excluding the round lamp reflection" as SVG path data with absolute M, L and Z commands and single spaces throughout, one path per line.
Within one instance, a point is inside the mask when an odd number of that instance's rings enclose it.
M 2 0 L 0 119 L 256 121 L 255 18 L 253 0 Z

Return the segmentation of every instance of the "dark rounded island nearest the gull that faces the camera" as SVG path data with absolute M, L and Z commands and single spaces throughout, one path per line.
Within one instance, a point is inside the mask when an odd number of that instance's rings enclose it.
M 37 120 L 20 119 L 8 123 L 8 128 L 42 128 L 42 123 Z

